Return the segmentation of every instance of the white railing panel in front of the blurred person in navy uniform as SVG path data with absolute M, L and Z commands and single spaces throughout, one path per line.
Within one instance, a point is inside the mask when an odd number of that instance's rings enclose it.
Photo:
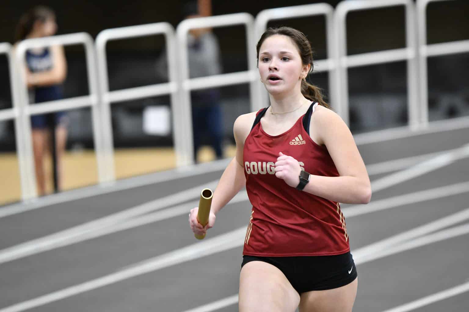
M 71 45 L 83 44 L 85 47 L 86 65 L 88 73 L 88 88 L 89 95 L 77 96 L 70 99 L 63 99 L 51 102 L 43 102 L 40 104 L 29 105 L 28 88 L 26 87 L 26 77 L 21 68 L 26 67 L 25 54 L 28 49 L 42 48 L 53 45 Z M 25 153 L 25 171 L 27 174 L 28 188 L 27 194 L 23 194 L 23 199 L 29 199 L 37 196 L 36 189 L 36 173 L 34 170 L 32 140 L 31 140 L 31 123 L 30 116 L 36 114 L 51 113 L 60 110 L 76 109 L 81 107 L 91 106 L 92 124 L 93 124 L 93 137 L 95 152 L 98 164 L 98 178 L 100 182 L 105 181 L 105 174 L 103 172 L 103 153 L 102 153 L 102 134 L 99 125 L 98 112 L 98 87 L 96 81 L 96 61 L 93 39 L 87 33 L 76 33 L 60 36 L 50 36 L 42 38 L 26 39 L 20 42 L 15 51 L 15 64 L 18 66 L 18 102 L 20 108 L 20 120 L 23 127 L 24 139 L 24 153 Z

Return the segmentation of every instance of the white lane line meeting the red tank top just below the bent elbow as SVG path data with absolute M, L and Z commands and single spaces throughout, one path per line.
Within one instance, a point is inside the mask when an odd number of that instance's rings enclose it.
M 434 199 L 454 196 L 469 192 L 469 182 L 455 183 L 434 189 L 426 189 L 414 193 L 384 198 L 378 201 L 371 201 L 366 205 L 343 205 L 342 212 L 346 218 L 360 216 L 380 210 L 400 207 L 411 203 L 431 201 Z

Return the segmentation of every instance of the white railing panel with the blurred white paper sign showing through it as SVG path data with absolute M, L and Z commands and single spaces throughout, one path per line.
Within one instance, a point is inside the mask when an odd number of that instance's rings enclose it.
M 109 78 L 107 71 L 106 44 L 111 40 L 135 38 L 162 34 L 166 39 L 166 55 L 169 71 L 169 82 L 154 84 L 144 87 L 133 87 L 122 90 L 109 91 Z M 100 87 L 100 102 L 102 105 L 102 126 L 104 134 L 104 150 L 106 157 L 106 180 L 113 181 L 113 131 L 111 123 L 111 103 L 141 99 L 151 96 L 171 96 L 171 109 L 173 116 L 173 141 L 178 166 L 185 164 L 184 160 L 184 136 L 182 127 L 179 127 L 179 116 L 182 116 L 182 105 L 178 105 L 177 63 L 176 63 L 176 39 L 174 28 L 170 23 L 159 22 L 145 25 L 120 27 L 101 31 L 96 37 L 96 51 L 98 55 L 98 79 Z

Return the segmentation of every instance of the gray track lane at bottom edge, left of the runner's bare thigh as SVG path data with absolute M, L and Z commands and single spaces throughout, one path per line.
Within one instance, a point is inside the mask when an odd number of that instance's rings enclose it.
M 242 248 L 165 268 L 31 311 L 180 312 L 238 292 Z

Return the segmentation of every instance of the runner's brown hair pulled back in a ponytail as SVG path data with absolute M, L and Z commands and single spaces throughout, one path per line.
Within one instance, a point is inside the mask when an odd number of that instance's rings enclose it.
M 313 71 L 313 51 L 311 49 L 311 44 L 306 36 L 299 30 L 291 27 L 278 27 L 278 28 L 269 28 L 264 34 L 262 34 L 259 42 L 257 42 L 257 62 L 259 62 L 259 49 L 264 43 L 265 39 L 273 35 L 283 35 L 288 36 L 296 44 L 300 57 L 302 59 L 303 65 L 310 64 L 310 73 Z M 325 106 L 330 109 L 330 106 L 324 101 L 324 95 L 322 94 L 321 88 L 312 85 L 304 80 L 301 81 L 301 93 L 305 98 L 310 101 L 316 101 L 319 105 Z

